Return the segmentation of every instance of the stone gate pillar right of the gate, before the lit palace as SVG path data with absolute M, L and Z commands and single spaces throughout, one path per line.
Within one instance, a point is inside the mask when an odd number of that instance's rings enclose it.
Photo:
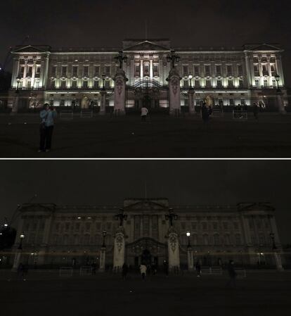
M 169 82 L 169 114 L 179 115 L 181 111 L 181 100 L 180 100 L 180 80 L 178 70 L 173 68 L 169 72 L 167 81 Z

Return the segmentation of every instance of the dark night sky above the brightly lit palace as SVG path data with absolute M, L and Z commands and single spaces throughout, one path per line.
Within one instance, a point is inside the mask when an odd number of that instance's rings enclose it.
M 4 2 L 4 1 L 2 1 Z M 9 46 L 119 46 L 122 39 L 167 37 L 173 46 L 280 43 L 291 83 L 290 0 L 23 0 L 1 3 L 0 61 Z

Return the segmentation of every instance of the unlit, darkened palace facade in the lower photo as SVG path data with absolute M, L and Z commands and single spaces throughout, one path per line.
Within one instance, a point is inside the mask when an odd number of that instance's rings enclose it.
M 202 265 L 220 265 L 231 258 L 238 265 L 272 265 L 270 233 L 280 249 L 274 208 L 269 203 L 169 208 L 167 198 L 127 198 L 122 206 L 127 215 L 122 222 L 125 263 L 137 267 L 145 253 L 157 265 L 167 260 L 169 210 L 176 215 L 172 224 L 179 240 L 180 267 L 187 265 L 189 244 L 194 262 L 200 260 Z M 25 262 L 71 265 L 75 258 L 78 265 L 86 265 L 89 260 L 98 263 L 101 247 L 105 246 L 106 265 L 112 267 L 120 231 L 117 213 L 117 206 L 24 204 L 19 209 L 15 248 L 20 234 L 24 234 Z M 186 232 L 190 232 L 190 239 Z

